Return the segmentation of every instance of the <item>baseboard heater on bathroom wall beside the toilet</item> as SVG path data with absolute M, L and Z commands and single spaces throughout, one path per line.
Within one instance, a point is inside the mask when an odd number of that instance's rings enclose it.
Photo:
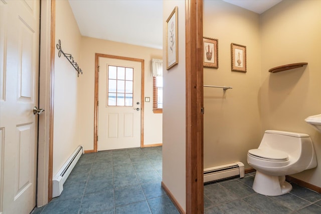
M 242 162 L 214 166 L 204 169 L 204 183 L 222 180 L 237 175 L 244 177 L 244 164 Z

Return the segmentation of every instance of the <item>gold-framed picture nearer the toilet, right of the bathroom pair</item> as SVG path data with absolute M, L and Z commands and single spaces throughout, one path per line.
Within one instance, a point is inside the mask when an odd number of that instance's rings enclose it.
M 246 72 L 246 46 L 231 43 L 231 69 Z

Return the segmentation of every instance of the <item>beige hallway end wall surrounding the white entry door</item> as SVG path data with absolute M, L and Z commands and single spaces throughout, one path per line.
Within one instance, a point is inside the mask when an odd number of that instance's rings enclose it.
M 152 76 L 151 59 L 162 59 L 162 50 L 128 45 L 112 41 L 82 37 L 81 68 L 83 75 L 79 77 L 79 127 L 78 139 L 85 150 L 93 149 L 94 136 L 94 83 L 95 53 L 144 60 L 144 93 L 150 102 L 144 103 L 144 144 L 162 143 L 162 114 L 152 112 Z M 98 141 L 99 148 L 99 141 Z

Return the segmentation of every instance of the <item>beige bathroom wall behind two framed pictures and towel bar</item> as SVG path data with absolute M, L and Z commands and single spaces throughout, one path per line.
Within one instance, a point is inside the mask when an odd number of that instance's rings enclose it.
M 222 1 L 204 1 L 204 37 L 218 39 L 219 68 L 204 68 L 204 168 L 241 161 L 261 140 L 259 15 Z M 231 43 L 246 46 L 247 72 L 231 71 Z

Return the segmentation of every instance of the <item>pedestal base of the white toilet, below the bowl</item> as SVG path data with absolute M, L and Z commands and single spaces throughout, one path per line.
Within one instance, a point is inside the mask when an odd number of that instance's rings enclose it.
M 272 176 L 256 171 L 253 190 L 259 194 L 276 196 L 291 191 L 292 185 L 285 181 L 285 175 Z

